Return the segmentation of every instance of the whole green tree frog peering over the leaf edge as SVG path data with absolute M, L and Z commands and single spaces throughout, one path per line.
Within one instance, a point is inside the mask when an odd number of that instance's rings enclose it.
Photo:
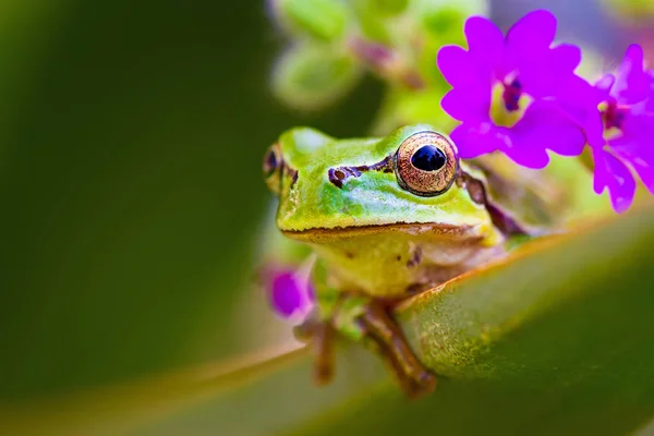
M 334 377 L 334 342 L 342 337 L 380 355 L 408 397 L 432 392 L 436 375 L 392 308 L 536 233 L 492 197 L 483 166 L 460 159 L 429 124 L 346 140 L 292 128 L 272 142 L 263 170 L 278 231 L 316 257 L 317 304 L 295 336 L 314 344 L 319 385 Z

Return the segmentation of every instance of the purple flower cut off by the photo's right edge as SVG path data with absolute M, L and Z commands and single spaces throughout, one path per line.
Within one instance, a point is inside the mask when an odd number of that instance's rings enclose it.
M 643 50 L 627 49 L 616 74 L 594 87 L 595 106 L 585 132 L 595 161 L 594 189 L 608 189 L 617 213 L 629 208 L 635 194 L 632 170 L 654 193 L 654 73 L 643 68 Z

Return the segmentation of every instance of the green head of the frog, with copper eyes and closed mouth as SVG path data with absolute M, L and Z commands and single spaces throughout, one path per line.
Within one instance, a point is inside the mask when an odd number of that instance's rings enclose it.
M 264 172 L 279 197 L 277 226 L 303 240 L 352 232 L 428 231 L 493 239 L 483 187 L 455 144 L 425 124 L 382 138 L 337 140 L 310 128 L 284 132 Z M 481 175 L 477 174 L 477 178 Z

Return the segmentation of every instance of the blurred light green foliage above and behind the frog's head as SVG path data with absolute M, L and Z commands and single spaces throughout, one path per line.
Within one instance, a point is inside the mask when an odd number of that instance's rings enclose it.
M 367 70 L 382 78 L 393 95 L 389 100 L 397 101 L 398 94 L 407 96 L 402 100 L 420 100 L 428 94 L 439 101 L 449 86 L 436 68 L 438 48 L 463 43 L 465 17 L 486 10 L 485 0 L 278 0 L 271 4 L 276 22 L 291 40 L 291 48 L 277 60 L 274 89 L 280 101 L 301 110 L 336 105 L 359 83 L 354 74 L 334 73 L 335 56 L 348 59 L 348 71 Z M 338 70 L 343 69 L 339 64 Z M 322 70 L 326 72 L 320 74 Z M 407 111 L 389 109 L 395 110 Z M 432 121 L 431 107 L 412 112 L 410 122 Z M 385 123 L 375 130 L 388 133 L 404 118 L 385 116 Z

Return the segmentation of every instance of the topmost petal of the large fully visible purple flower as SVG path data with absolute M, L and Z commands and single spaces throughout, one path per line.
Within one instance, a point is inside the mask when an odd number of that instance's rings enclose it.
M 556 17 L 549 11 L 532 11 L 520 19 L 509 29 L 507 44 L 514 48 L 530 50 L 547 48 L 554 41 L 556 34 Z

